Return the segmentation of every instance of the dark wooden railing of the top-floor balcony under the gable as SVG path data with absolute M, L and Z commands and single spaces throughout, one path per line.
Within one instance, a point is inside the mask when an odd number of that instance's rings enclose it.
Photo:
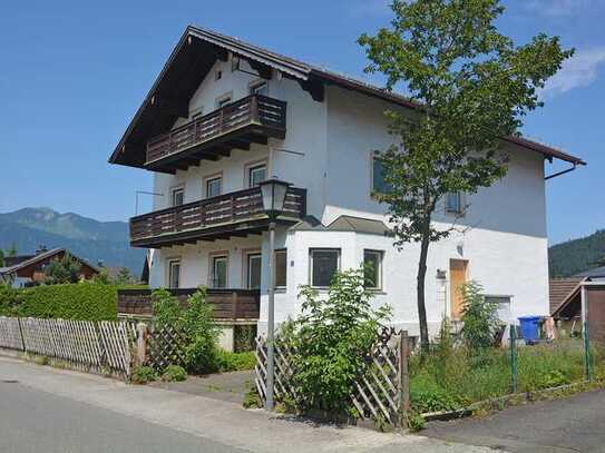
M 285 134 L 286 102 L 251 95 L 147 142 L 146 165 L 251 125 Z

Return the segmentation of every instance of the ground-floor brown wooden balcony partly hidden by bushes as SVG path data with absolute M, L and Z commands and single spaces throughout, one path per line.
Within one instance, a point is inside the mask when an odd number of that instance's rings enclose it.
M 197 288 L 169 289 L 182 304 Z M 258 319 L 261 292 L 258 289 L 207 289 L 207 299 L 214 308 L 214 318 L 223 321 Z M 118 289 L 118 316 L 146 317 L 153 315 L 152 289 Z

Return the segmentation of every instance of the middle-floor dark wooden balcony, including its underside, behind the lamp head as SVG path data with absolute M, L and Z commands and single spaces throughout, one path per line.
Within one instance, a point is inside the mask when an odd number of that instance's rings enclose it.
M 306 190 L 290 187 L 280 224 L 306 215 Z M 269 226 L 261 188 L 237 190 L 199 201 L 144 214 L 130 219 L 130 245 L 160 248 L 197 240 L 228 239 L 262 234 Z

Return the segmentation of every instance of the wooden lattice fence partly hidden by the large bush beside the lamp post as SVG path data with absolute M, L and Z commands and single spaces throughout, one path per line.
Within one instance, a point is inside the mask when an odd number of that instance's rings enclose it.
M 291 385 L 291 377 L 296 373 L 292 366 L 295 352 L 280 339 L 274 344 L 275 374 L 274 395 L 276 401 L 289 398 L 296 401 L 297 395 Z M 398 425 L 401 415 L 410 408 L 409 383 L 410 343 L 408 333 L 383 328 L 374 346 L 365 358 L 367 372 L 354 383 L 351 403 L 363 420 L 387 421 Z M 266 338 L 256 338 L 256 391 L 264 402 L 266 397 Z M 299 400 L 300 401 L 300 400 Z

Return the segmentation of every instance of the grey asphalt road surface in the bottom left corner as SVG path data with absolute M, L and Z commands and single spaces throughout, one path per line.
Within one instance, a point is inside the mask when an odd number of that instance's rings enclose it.
M 0 452 L 243 452 L 19 383 L 0 381 Z

